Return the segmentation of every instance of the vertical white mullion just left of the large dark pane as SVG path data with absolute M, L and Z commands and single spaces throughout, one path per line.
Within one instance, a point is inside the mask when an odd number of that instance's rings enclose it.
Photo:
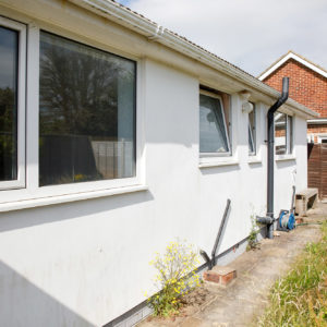
M 26 180 L 27 189 L 38 187 L 38 94 L 39 94 L 39 28 L 28 26 L 27 45 L 27 117 Z

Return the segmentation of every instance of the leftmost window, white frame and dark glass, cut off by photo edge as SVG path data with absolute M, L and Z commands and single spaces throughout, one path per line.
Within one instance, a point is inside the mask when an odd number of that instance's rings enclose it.
M 25 26 L 0 17 L 0 187 L 25 185 Z

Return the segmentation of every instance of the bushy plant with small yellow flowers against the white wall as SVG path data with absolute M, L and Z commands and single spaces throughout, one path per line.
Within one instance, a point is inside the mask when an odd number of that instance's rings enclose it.
M 183 296 L 199 286 L 199 277 L 195 274 L 197 264 L 197 252 L 184 242 L 170 242 L 162 255 L 156 254 L 150 265 L 158 271 L 155 283 L 160 291 L 148 300 L 155 316 L 179 313 Z

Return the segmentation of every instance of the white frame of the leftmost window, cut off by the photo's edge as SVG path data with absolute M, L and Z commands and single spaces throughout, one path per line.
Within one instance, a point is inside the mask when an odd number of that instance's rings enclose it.
M 0 16 L 0 26 L 19 33 L 17 70 L 17 179 L 1 181 L 0 190 L 25 187 L 25 85 L 26 85 L 26 25 Z

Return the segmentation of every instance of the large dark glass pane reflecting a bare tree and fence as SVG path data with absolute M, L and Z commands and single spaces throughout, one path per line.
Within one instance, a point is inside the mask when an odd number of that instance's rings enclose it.
M 40 35 L 39 184 L 135 175 L 134 61 Z

